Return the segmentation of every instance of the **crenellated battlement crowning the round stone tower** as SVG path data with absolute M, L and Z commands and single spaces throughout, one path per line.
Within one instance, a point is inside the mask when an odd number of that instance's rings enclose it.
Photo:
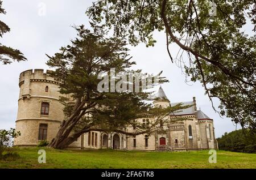
M 26 70 L 20 73 L 19 75 L 19 86 L 20 84 L 24 83 L 25 80 L 28 81 L 47 81 L 52 83 L 60 83 L 52 78 L 49 73 L 52 72 L 51 70 L 47 70 L 44 72 L 43 69 L 35 69 L 34 71 Z

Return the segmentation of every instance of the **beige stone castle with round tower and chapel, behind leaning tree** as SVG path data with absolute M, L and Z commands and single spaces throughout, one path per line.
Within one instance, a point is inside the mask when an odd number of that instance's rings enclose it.
M 19 76 L 19 100 L 16 130 L 21 136 L 15 139 L 14 145 L 37 145 L 40 140 L 50 142 L 57 134 L 61 121 L 65 118 L 64 105 L 59 102 L 59 84 L 50 77 L 49 71 L 27 70 Z M 165 108 L 177 103 L 170 103 L 162 87 L 158 91 L 158 100 L 152 102 L 155 106 Z M 196 98 L 183 102 L 192 105 L 190 108 L 172 113 L 167 119 L 185 118 L 170 125 L 159 125 L 151 135 L 126 136 L 117 132 L 106 133 L 90 131 L 80 136 L 70 148 L 113 148 L 128 150 L 174 150 L 187 151 L 193 149 L 217 149 L 214 136 L 213 119 L 197 109 Z M 137 119 L 147 126 L 154 119 Z M 133 126 L 127 126 L 126 131 L 136 131 Z

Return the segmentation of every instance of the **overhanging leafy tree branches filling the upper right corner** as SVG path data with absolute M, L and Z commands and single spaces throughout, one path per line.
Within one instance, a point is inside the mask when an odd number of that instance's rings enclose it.
M 209 15 L 210 3 L 216 4 L 216 15 Z M 221 115 L 255 133 L 255 1 L 98 0 L 86 13 L 131 45 L 154 46 L 153 32 L 163 31 L 171 61 L 184 65 L 193 82 L 201 82 L 210 101 L 220 100 Z M 248 24 L 252 28 L 246 33 Z M 175 59 L 171 43 L 181 49 Z

